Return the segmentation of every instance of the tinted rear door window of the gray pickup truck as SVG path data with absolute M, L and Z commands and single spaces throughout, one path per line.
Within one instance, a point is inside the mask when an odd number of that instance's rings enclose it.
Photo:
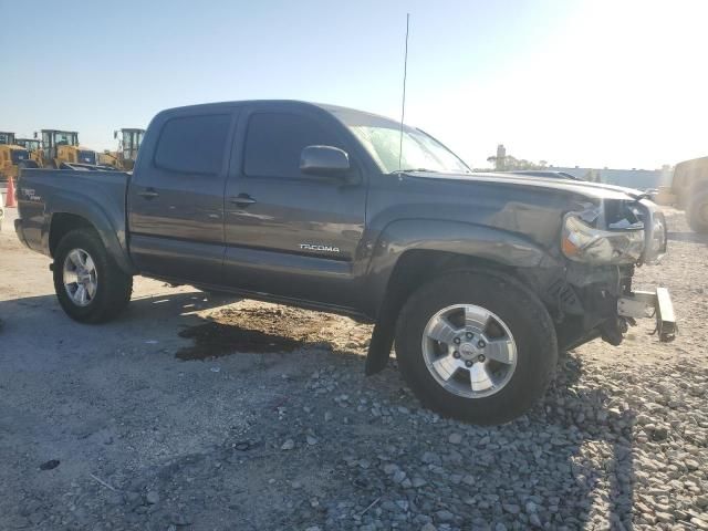
M 163 126 L 155 166 L 170 171 L 216 175 L 221 169 L 231 116 L 173 118 Z

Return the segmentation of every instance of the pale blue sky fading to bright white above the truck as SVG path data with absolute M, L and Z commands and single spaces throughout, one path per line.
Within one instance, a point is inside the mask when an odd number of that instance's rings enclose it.
M 400 118 L 470 166 L 708 155 L 708 1 L 0 0 L 0 131 L 146 127 L 167 107 L 287 98 Z M 15 23 L 10 23 L 15 21 Z M 15 50 L 15 53 L 9 53 Z

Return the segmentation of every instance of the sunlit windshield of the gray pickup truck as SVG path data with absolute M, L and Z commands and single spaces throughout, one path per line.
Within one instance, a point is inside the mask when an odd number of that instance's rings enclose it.
M 469 168 L 452 152 L 420 131 L 405 128 L 400 150 L 400 128 L 379 125 L 348 125 L 348 128 L 386 174 L 399 169 L 469 173 Z

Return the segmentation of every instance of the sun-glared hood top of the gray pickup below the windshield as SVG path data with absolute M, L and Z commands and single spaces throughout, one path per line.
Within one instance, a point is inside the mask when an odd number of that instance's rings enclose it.
M 438 174 L 431 171 L 412 171 L 407 176 L 421 179 L 444 179 L 470 183 L 493 183 L 508 186 L 538 187 L 549 190 L 574 192 L 597 199 L 641 199 L 646 197 L 641 190 L 603 183 L 585 183 L 582 180 L 556 179 L 552 177 L 520 176 L 513 174 L 475 173 L 475 174 Z

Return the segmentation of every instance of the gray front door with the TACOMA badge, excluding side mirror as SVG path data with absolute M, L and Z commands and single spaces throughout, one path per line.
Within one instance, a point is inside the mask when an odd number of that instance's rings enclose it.
M 364 176 L 336 125 L 308 112 L 252 108 L 239 125 L 225 194 L 225 281 L 339 305 L 350 299 L 365 220 Z M 350 153 L 352 175 L 300 171 L 304 147 Z

